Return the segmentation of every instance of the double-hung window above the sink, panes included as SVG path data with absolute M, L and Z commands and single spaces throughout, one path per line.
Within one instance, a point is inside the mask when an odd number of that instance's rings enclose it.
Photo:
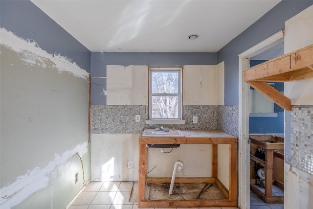
M 181 119 L 181 74 L 181 68 L 149 68 L 149 119 Z

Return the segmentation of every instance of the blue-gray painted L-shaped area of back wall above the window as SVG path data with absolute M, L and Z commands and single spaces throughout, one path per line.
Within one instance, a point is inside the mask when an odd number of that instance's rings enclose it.
M 106 105 L 107 65 L 172 67 L 216 65 L 216 53 L 91 52 L 91 105 Z

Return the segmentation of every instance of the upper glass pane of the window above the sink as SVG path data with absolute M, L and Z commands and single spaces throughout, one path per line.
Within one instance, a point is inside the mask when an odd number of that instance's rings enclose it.
M 179 93 L 179 72 L 152 72 L 152 93 Z

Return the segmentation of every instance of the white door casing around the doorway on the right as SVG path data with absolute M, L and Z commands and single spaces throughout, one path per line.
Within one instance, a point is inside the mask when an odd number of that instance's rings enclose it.
M 243 71 L 250 68 L 250 59 L 284 42 L 284 31 L 279 31 L 259 44 L 239 54 L 239 140 L 238 140 L 238 206 L 250 208 L 250 144 L 249 141 L 249 107 L 250 86 L 243 80 Z

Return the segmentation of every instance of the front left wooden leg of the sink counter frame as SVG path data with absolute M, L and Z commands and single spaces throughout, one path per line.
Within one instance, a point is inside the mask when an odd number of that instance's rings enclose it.
M 148 148 L 145 144 L 139 144 L 139 172 L 138 172 L 138 201 L 145 201 L 145 179 L 147 177 L 147 154 Z

